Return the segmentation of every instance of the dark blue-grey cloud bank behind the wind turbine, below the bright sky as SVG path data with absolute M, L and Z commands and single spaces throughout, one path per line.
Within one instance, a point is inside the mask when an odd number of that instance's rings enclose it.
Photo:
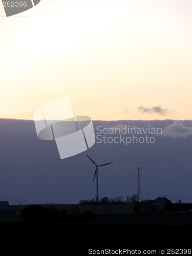
M 0 119 L 0 122 L 0 201 L 17 204 L 16 197 L 20 201 L 28 199 L 26 203 L 70 204 L 92 199 L 96 195 L 96 183 L 92 182 L 95 166 L 86 154 L 97 164 L 113 162 L 99 168 L 99 198 L 123 196 L 125 200 L 126 196 L 136 194 L 140 165 L 142 199 L 168 195 L 172 202 L 178 199 L 187 202 L 187 197 L 192 201 L 191 120 L 93 121 L 95 135 L 100 135 L 94 146 L 62 160 L 55 141 L 37 138 L 33 120 Z M 133 134 L 127 134 L 128 130 L 124 134 L 121 129 L 125 127 L 135 128 L 132 133 L 136 131 L 137 139 L 148 136 L 154 137 L 155 142 L 136 143 L 134 139 L 133 143 L 129 139 L 126 145 L 122 137 L 133 139 Z M 153 134 L 148 134 L 149 128 Z M 154 134 L 158 128 L 162 134 Z M 106 143 L 98 139 L 103 136 Z

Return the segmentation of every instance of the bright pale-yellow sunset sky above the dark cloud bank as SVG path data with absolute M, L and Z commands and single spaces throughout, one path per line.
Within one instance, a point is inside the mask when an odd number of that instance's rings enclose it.
M 0 4 L 1 118 L 68 96 L 93 120 L 192 119 L 192 1 Z

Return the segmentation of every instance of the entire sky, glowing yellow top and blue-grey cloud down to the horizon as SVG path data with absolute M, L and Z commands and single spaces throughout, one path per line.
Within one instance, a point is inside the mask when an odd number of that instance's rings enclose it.
M 99 174 L 100 198 L 137 193 L 141 166 L 142 199 L 192 202 L 191 10 L 191 0 L 41 0 L 6 17 L 1 2 L 0 199 L 93 198 L 88 154 L 98 164 L 113 162 Z M 63 97 L 75 116 L 92 118 L 96 136 L 98 125 L 161 127 L 162 135 L 129 145 L 96 137 L 88 153 L 61 161 L 33 120 L 40 106 Z

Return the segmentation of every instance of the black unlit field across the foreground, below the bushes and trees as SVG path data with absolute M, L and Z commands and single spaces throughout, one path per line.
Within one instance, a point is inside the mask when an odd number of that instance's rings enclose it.
M 192 214 L 102 215 L 91 222 L 1 222 L 6 255 L 89 255 L 88 250 L 191 249 Z M 77 254 L 78 253 L 78 254 Z M 166 253 L 165 253 L 166 254 Z M 3 255 L 3 254 L 2 254 Z

